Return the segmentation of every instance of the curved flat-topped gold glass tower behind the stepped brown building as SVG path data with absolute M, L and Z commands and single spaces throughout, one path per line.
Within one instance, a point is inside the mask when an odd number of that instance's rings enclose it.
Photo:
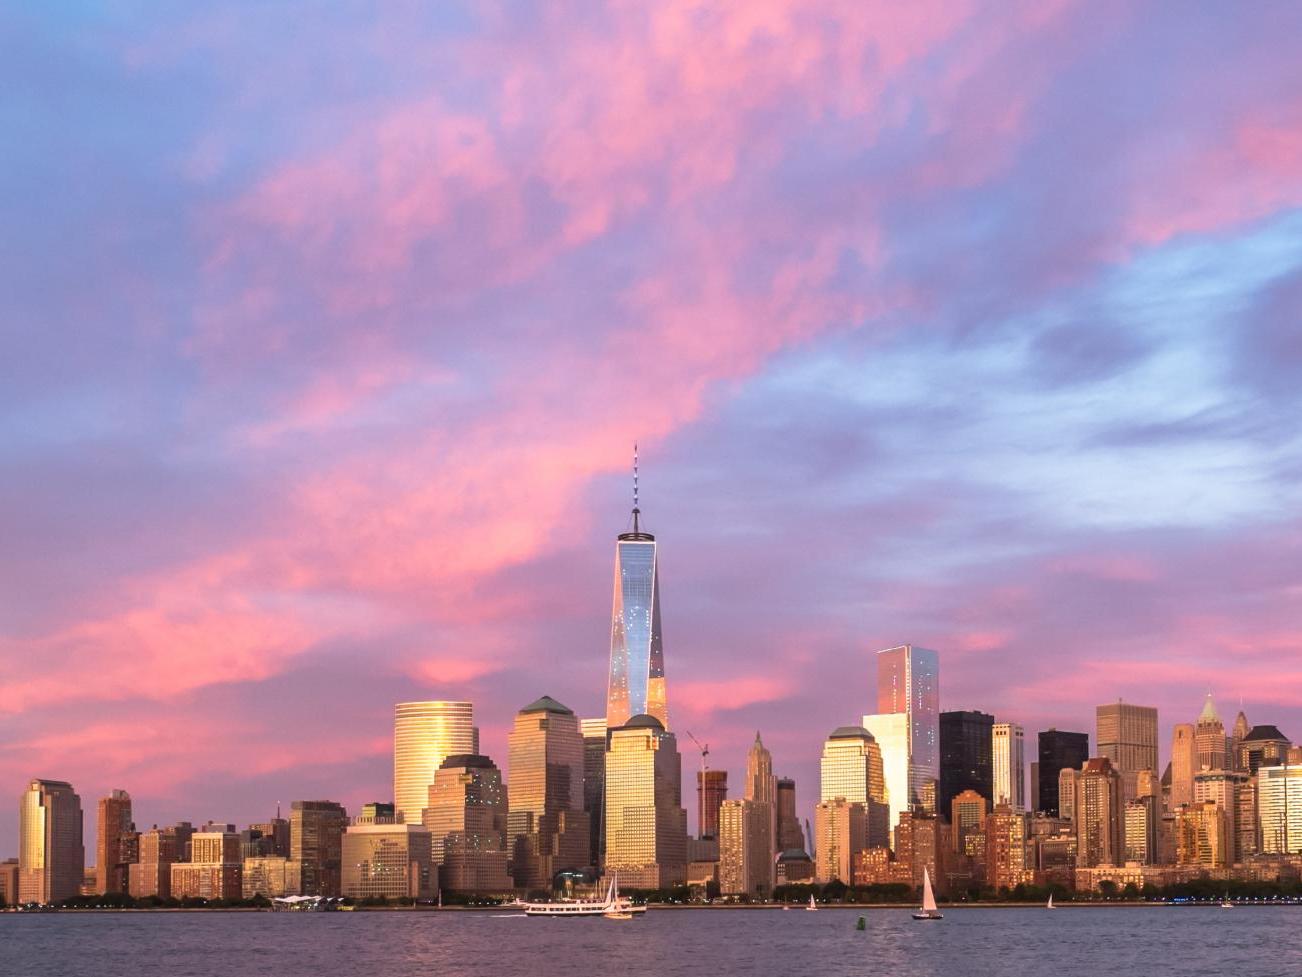
M 469 702 L 398 702 L 393 707 L 393 804 L 418 823 L 434 774 L 452 754 L 479 752 Z

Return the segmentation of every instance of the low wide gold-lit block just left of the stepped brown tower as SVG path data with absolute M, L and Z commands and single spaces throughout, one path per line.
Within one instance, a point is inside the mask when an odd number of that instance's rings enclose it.
M 372 821 L 344 832 L 344 895 L 349 899 L 428 899 L 435 895 L 430 828 Z

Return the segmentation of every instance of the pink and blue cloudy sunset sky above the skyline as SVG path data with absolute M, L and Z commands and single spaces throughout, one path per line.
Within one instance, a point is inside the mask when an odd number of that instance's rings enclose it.
M 503 766 L 600 714 L 634 440 L 672 724 L 738 784 L 759 728 L 802 813 L 905 641 L 1029 750 L 1124 697 L 1165 762 L 1208 689 L 1302 739 L 1299 38 L 9 5 L 0 858 L 31 776 L 246 823 L 391 799 L 397 701 Z

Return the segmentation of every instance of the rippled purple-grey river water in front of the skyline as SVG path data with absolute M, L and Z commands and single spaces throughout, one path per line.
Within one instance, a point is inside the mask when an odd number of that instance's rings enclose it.
M 9 977 L 1295 977 L 1302 907 L 0 916 Z

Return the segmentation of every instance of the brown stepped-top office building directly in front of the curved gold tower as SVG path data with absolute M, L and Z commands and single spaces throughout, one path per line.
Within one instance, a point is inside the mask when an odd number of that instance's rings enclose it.
M 458 753 L 443 761 L 430 784 L 422 823 L 439 887 L 456 892 L 506 892 L 506 788 L 488 757 Z

